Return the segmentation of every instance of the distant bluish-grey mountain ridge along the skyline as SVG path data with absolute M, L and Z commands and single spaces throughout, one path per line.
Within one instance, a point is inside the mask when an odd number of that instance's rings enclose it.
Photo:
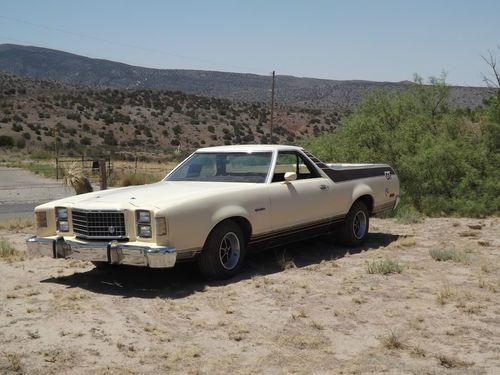
M 151 69 L 67 52 L 0 45 L 0 71 L 42 80 L 70 84 L 126 89 L 161 89 L 187 94 L 227 98 L 243 102 L 266 102 L 270 96 L 270 77 L 202 70 Z M 403 82 L 334 81 L 292 76 L 276 77 L 278 104 L 310 108 L 351 110 L 366 93 L 384 88 L 404 90 Z M 452 88 L 452 103 L 476 107 L 493 91 L 482 87 Z

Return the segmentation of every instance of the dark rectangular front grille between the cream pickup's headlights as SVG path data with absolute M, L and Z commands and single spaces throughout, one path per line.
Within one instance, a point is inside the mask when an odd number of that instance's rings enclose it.
M 76 237 L 121 239 L 127 236 L 125 215 L 121 211 L 89 211 L 74 208 L 71 217 Z

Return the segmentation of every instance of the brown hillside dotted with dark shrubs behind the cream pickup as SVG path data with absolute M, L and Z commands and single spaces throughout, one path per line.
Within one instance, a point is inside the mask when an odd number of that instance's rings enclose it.
M 269 141 L 268 106 L 261 103 L 72 86 L 3 73 L 0 87 L 0 135 L 21 147 L 52 147 L 55 134 L 67 151 L 106 145 L 151 154 Z M 273 141 L 294 143 L 329 132 L 340 118 L 337 111 L 279 106 Z

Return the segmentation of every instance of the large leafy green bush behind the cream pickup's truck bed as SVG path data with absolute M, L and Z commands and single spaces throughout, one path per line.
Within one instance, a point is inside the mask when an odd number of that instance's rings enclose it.
M 333 133 L 304 146 L 327 162 L 383 162 L 404 203 L 426 215 L 500 212 L 500 95 L 468 114 L 449 108 L 444 77 L 366 97 Z M 473 123 L 478 119 L 479 124 Z

